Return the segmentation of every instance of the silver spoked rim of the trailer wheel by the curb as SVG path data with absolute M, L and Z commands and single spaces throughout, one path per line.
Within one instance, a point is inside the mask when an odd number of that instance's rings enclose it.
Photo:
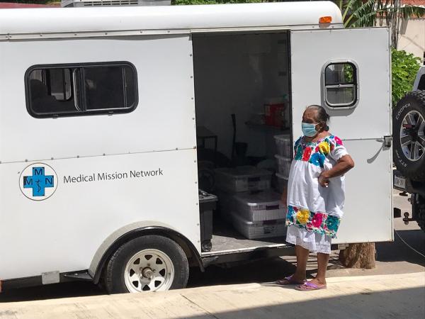
M 128 291 L 165 291 L 174 280 L 174 265 L 160 250 L 142 250 L 132 256 L 124 272 Z

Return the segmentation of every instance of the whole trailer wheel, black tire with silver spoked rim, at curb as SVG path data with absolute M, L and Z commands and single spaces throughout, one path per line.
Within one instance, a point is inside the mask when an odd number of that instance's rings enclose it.
M 138 293 L 184 288 L 189 267 L 181 247 L 166 237 L 137 237 L 113 254 L 106 266 L 108 293 Z

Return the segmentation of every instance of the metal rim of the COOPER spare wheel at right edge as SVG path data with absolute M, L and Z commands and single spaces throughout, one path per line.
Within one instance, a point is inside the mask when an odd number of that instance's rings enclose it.
M 404 116 L 400 128 L 400 145 L 404 155 L 416 162 L 424 156 L 425 149 L 425 121 L 418 111 L 409 111 Z

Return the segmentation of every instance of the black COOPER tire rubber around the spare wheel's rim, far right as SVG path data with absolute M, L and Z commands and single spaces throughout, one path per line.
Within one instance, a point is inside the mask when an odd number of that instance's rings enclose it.
M 425 181 L 424 128 L 419 130 L 422 119 L 425 119 L 425 91 L 407 93 L 397 103 L 392 116 L 395 165 L 399 172 L 414 181 Z M 404 120 L 407 122 L 403 125 Z M 402 140 L 407 143 L 404 149 Z

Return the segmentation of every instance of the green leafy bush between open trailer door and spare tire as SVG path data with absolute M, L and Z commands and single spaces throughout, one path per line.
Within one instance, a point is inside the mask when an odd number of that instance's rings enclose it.
M 406 51 L 392 50 L 392 106 L 402 99 L 404 94 L 412 91 L 412 86 L 416 73 L 420 67 L 419 57 L 414 57 L 412 53 Z

